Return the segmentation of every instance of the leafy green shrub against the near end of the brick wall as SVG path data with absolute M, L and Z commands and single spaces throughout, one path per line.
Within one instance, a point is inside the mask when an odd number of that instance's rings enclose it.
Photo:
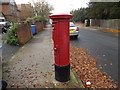
M 10 27 L 10 29 L 8 29 L 7 35 L 8 35 L 7 43 L 12 44 L 12 45 L 19 45 L 16 25 L 13 25 Z

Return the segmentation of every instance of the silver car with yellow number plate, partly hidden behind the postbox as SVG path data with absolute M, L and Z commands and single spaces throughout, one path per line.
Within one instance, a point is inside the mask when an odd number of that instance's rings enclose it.
M 73 22 L 70 22 L 70 36 L 74 36 L 75 38 L 78 38 L 78 35 L 79 35 L 79 28 Z

